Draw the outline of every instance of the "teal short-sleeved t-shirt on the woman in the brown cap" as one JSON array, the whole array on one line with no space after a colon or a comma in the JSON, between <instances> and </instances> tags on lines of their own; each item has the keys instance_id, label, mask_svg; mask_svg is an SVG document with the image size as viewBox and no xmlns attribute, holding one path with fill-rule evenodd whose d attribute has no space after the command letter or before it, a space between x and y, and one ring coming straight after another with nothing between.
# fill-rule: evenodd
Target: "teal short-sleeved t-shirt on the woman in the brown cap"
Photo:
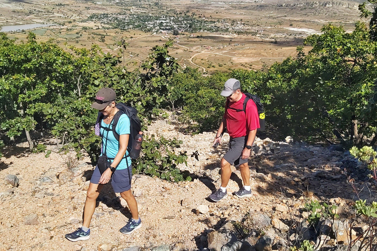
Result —
<instances>
[{"instance_id":1,"label":"teal short-sleeved t-shirt on the woman in the brown cap","mask_svg":"<svg viewBox=\"0 0 377 251\"><path fill-rule=\"evenodd\" d=\"M110 125L107 125L103 120L101 121L101 126L103 127L112 127L112 122ZM126 114L122 114L119 117L118 124L115 127L115 131L119 134L130 134L130 119ZM108 135L107 135L108 134ZM102 151L105 151L105 142L106 142L106 136L108 137L108 143L106 147L106 154L109 158L115 158L116 154L119 150L119 142L115 139L114 133L112 131L107 131L104 128L101 127L101 135L104 135L102 138ZM102 152L101 152L102 155ZM126 151L126 155L128 155L128 151ZM112 161L113 159L111 159ZM131 158L127 157L128 160L128 166L131 166ZM117 166L117 170L122 170L127 168L127 161L126 159L122 159L120 163Z\"/></svg>"}]
</instances>

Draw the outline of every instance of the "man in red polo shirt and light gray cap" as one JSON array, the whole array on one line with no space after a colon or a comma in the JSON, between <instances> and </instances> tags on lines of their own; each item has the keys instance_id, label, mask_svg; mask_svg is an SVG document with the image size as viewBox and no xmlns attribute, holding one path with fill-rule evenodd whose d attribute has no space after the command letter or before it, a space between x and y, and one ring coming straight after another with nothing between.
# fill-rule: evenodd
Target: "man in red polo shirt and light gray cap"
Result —
<instances>
[{"instance_id":1,"label":"man in red polo shirt and light gray cap","mask_svg":"<svg viewBox=\"0 0 377 251\"><path fill-rule=\"evenodd\" d=\"M221 159L221 186L209 196L212 201L220 201L227 196L226 186L232 174L230 169L232 164L240 168L243 181L243 187L234 194L239 198L252 196L248 159L257 128L260 127L257 106L252 99L247 101L246 109L243 111L243 101L246 96L241 92L240 81L234 78L228 79L224 84L221 96L227 97L227 100L225 113L218 127L214 144L221 143L225 127L230 140L229 151Z\"/></svg>"}]
</instances>

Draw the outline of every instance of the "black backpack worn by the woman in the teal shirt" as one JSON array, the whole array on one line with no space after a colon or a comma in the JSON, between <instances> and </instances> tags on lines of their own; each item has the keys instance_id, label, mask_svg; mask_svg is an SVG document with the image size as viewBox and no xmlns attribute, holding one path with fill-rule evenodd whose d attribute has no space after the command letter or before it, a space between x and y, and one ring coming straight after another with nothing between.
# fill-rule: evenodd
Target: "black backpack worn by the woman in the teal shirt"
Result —
<instances>
[{"instance_id":1,"label":"black backpack worn by the woman in the teal shirt","mask_svg":"<svg viewBox=\"0 0 377 251\"><path fill-rule=\"evenodd\" d=\"M139 134L139 131L141 130L141 123L139 118L137 117L137 110L134 107L125 105L122 102L119 102L115 105L116 108L119 109L117 113L115 113L114 118L112 119L112 127L109 129L108 127L101 126L101 128L107 130L107 131L112 131L114 134L114 137L117 141L119 141L119 134L115 131L116 125L118 124L118 120L120 115L125 113L129 119L130 119L130 138L128 140L128 146L127 146L127 151L130 154L132 150L132 145L135 140L135 137L137 134ZM100 117L100 121L104 118L104 115L102 114ZM101 125L101 123L100 123ZM100 130L101 134L101 130ZM102 137L102 135L100 135Z\"/></svg>"}]
</instances>

